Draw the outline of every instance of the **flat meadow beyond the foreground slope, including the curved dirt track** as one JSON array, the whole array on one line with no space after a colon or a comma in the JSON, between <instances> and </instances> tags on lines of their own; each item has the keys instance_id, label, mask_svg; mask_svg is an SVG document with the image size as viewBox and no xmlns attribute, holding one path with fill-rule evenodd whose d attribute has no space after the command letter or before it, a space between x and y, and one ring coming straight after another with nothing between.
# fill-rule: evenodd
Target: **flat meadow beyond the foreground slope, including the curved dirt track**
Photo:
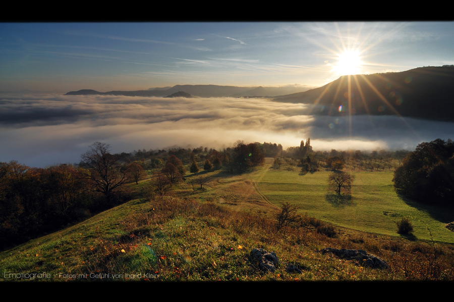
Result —
<instances>
[{"instance_id":1,"label":"flat meadow beyond the foreground slope, including the curved dirt track","mask_svg":"<svg viewBox=\"0 0 454 302\"><path fill-rule=\"evenodd\" d=\"M272 160L255 171L238 176L211 172L204 190L183 184L182 192L240 210L261 213L275 211L282 202L300 206L300 213L338 226L390 236L396 222L410 219L417 239L454 243L454 232L445 225L454 221L454 210L411 202L399 196L392 183L392 171L350 172L355 176L350 195L339 198L328 188L328 175L319 171L302 174L298 168L272 167ZM195 176L188 176L190 179ZM186 190L185 190L186 189ZM431 237L432 236L432 237Z\"/></svg>"}]
</instances>

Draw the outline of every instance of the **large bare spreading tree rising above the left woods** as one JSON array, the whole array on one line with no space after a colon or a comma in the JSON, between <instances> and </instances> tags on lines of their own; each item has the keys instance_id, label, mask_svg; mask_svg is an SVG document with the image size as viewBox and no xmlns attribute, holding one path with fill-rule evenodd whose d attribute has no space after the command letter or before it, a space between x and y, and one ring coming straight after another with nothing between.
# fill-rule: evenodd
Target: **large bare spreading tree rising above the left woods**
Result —
<instances>
[{"instance_id":1,"label":"large bare spreading tree rising above the left woods","mask_svg":"<svg viewBox=\"0 0 454 302\"><path fill-rule=\"evenodd\" d=\"M110 145L99 141L89 146L81 156L81 173L93 185L93 190L101 192L110 202L112 193L128 180L128 168L122 169L119 155L111 155Z\"/></svg>"}]
</instances>

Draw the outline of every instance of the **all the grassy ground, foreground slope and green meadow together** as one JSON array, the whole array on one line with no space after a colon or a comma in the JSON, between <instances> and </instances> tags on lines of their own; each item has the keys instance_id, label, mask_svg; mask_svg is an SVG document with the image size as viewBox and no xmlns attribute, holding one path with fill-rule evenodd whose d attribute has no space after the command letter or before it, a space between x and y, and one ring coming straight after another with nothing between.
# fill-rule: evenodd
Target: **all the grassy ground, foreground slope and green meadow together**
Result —
<instances>
[{"instance_id":1,"label":"all the grassy ground, foreground slope and green meadow together","mask_svg":"<svg viewBox=\"0 0 454 302\"><path fill-rule=\"evenodd\" d=\"M341 200L327 189L329 172L271 166L188 174L166 196L148 194L149 179L130 184L136 199L0 253L0 281L454 280L454 233L444 227L452 212L406 202L391 172L353 172L351 198ZM276 228L280 202L301 207L302 226ZM414 236L396 233L402 216ZM319 253L324 247L364 249L389 269ZM251 261L253 248L276 253L274 273ZM289 263L300 271L288 272Z\"/></svg>"}]
</instances>

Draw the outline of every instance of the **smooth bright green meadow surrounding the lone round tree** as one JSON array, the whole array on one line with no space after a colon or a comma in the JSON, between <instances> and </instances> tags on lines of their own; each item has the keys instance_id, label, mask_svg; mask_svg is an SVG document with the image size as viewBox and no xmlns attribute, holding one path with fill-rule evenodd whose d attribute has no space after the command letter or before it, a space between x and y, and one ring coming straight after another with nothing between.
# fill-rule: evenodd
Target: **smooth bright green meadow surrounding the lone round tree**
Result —
<instances>
[{"instance_id":1,"label":"smooth bright green meadow surrounding the lone round tree","mask_svg":"<svg viewBox=\"0 0 454 302\"><path fill-rule=\"evenodd\" d=\"M396 194L392 172L352 172L355 176L351 197L337 199L327 188L330 172L301 175L297 171L267 170L258 188L271 203L290 202L323 221L361 231L396 234L396 222L408 217L418 239L454 243L454 232L445 224L454 220L454 211L406 202ZM426 226L427 225L427 226Z\"/></svg>"}]
</instances>

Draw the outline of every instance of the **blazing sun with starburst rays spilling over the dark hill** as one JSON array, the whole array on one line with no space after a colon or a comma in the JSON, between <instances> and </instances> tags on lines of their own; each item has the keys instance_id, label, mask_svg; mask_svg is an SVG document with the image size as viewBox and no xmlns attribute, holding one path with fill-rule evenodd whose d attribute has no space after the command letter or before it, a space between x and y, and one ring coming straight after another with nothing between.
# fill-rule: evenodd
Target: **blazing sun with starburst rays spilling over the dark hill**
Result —
<instances>
[{"instance_id":1,"label":"blazing sun with starburst rays spilling over the dark hill","mask_svg":"<svg viewBox=\"0 0 454 302\"><path fill-rule=\"evenodd\" d=\"M329 41L328 44L312 41L329 52L326 54L327 60L324 62L330 68L329 72L331 73L330 83L325 86L325 89L316 98L312 109L318 109L317 105L324 105L329 108L327 109L329 115L345 116L349 125L347 131L350 138L354 136L354 127L352 125L352 117L354 115L368 115L370 122L373 123L370 115L377 110L382 112L386 108L390 114L400 117L406 127L413 130L402 119L393 104L394 102L388 102L386 96L380 93L378 87L374 86L373 81L369 80L370 76L367 75L370 73L367 69L368 67L380 65L370 61L366 62L366 60L374 55L374 46L380 43L381 38L373 34L374 29L362 34L362 26L354 27L351 24L346 24L341 28L335 23L334 27L335 31L323 30ZM357 32L353 32L353 27ZM371 73L376 73L376 71ZM380 74L373 76L383 78L383 75ZM339 80L336 81L336 79ZM395 83L391 84L394 85ZM364 90L372 91L372 95L370 93L365 95L363 93ZM326 97L332 97L330 104L326 102L329 99L326 99L323 102L324 104L319 103L322 98ZM375 105L371 105L372 99L379 100L381 104L378 108L375 108L376 102L374 103ZM327 127L332 129L332 123L327 125Z\"/></svg>"}]
</instances>

